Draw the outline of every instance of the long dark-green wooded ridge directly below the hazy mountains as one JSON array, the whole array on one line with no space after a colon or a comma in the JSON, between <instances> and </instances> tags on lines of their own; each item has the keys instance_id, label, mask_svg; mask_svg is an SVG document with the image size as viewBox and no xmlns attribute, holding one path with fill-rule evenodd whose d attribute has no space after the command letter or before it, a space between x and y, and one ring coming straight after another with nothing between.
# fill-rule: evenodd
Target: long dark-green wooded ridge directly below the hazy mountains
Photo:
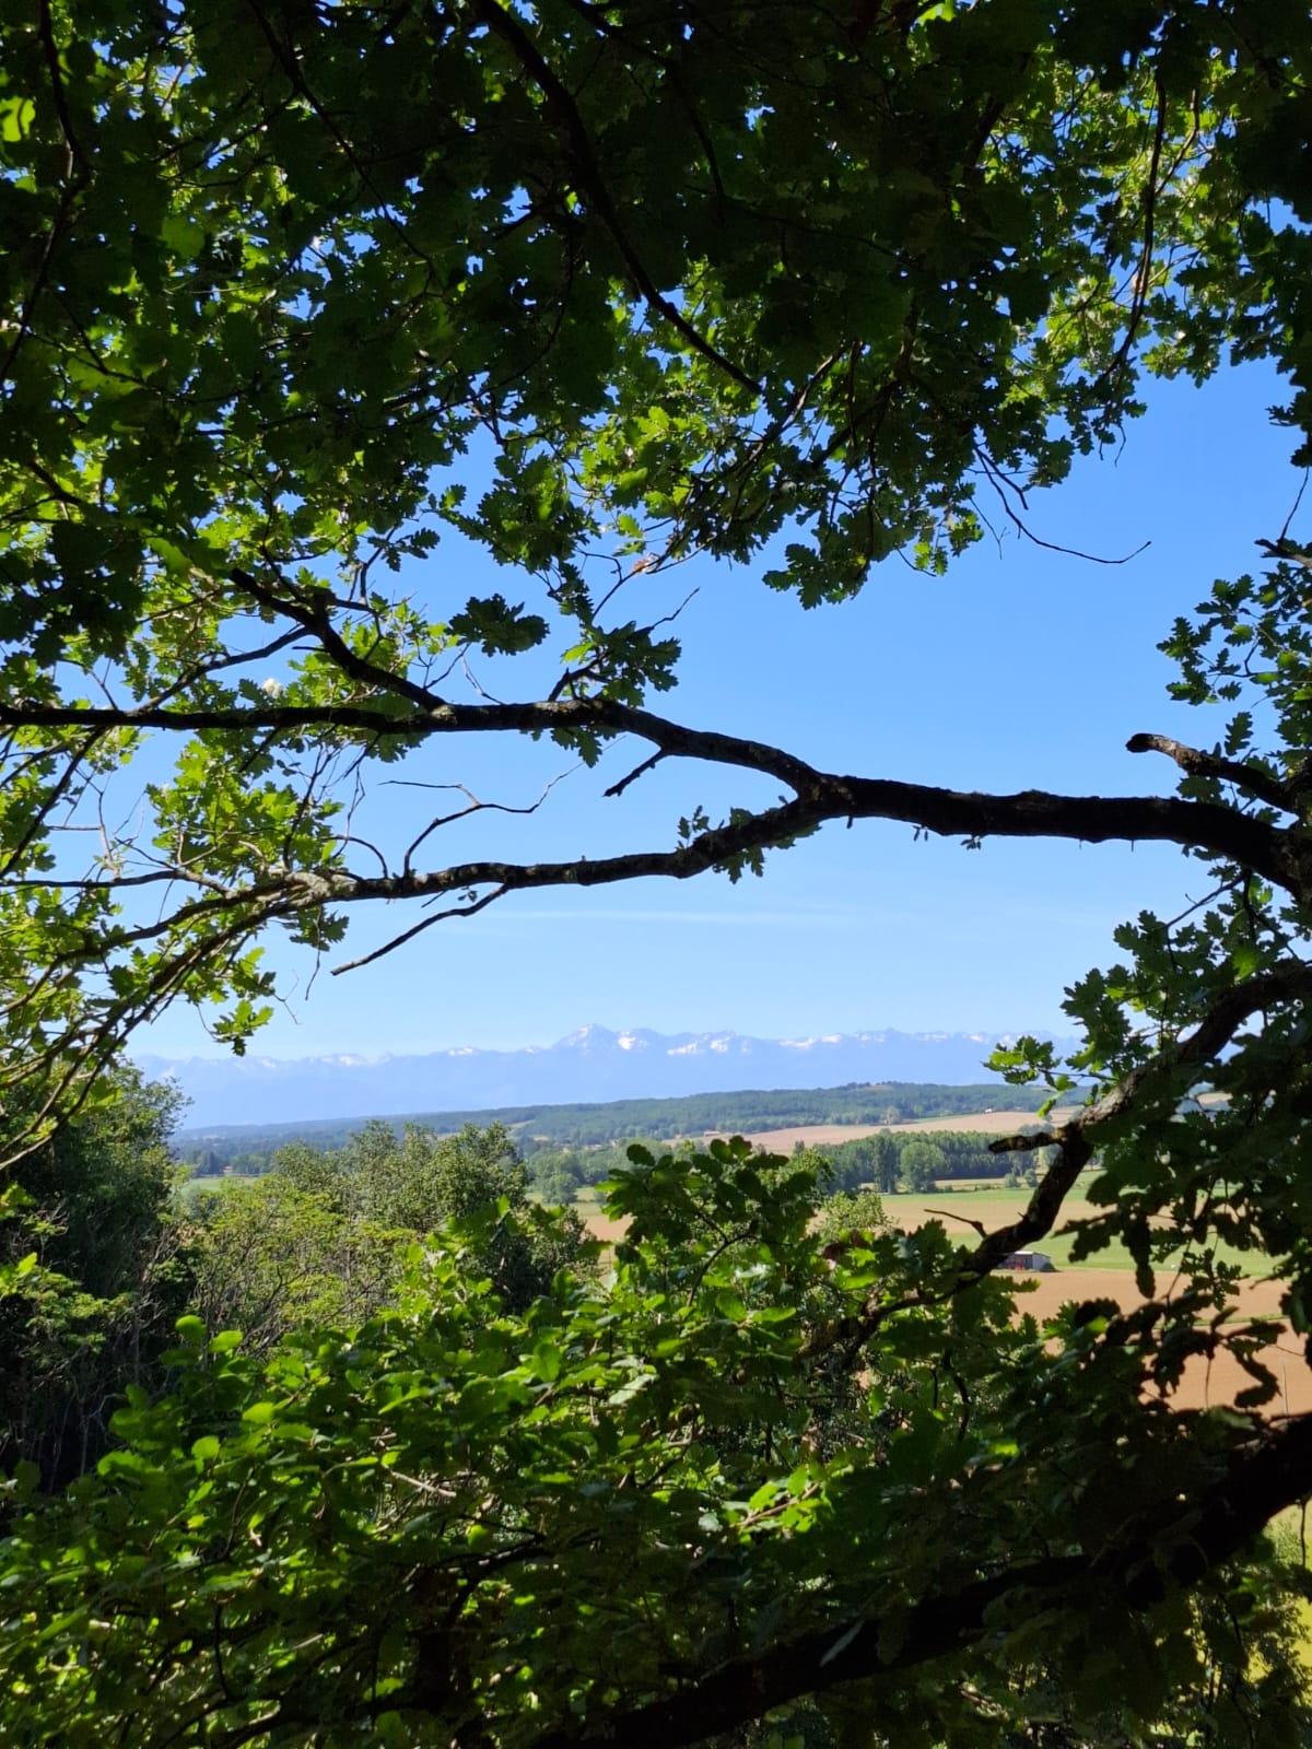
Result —
<instances>
[{"instance_id":1,"label":"long dark-green wooded ridge directly below the hazy mountains","mask_svg":"<svg viewBox=\"0 0 1312 1749\"><path fill-rule=\"evenodd\" d=\"M600 1105L502 1105L495 1111L415 1112L383 1119L401 1135L408 1123L455 1133L472 1123L504 1125L525 1160L562 1149L605 1149L609 1144L642 1137L666 1142L708 1130L750 1135L756 1130L785 1130L812 1123L875 1125L911 1123L918 1118L959 1118L1004 1105L1037 1111L1037 1088L1008 1088L997 1083L938 1086L934 1083L882 1081L848 1083L841 1088L775 1090L745 1093L687 1093L680 1098L623 1098ZM306 1142L332 1153L345 1147L371 1119L327 1118L276 1125L217 1125L182 1130L177 1154L198 1175L240 1172L257 1177L289 1142ZM621 1149L623 1158L623 1149ZM597 1172L605 1177L605 1172ZM593 1181L593 1174L588 1174Z\"/></svg>"}]
</instances>

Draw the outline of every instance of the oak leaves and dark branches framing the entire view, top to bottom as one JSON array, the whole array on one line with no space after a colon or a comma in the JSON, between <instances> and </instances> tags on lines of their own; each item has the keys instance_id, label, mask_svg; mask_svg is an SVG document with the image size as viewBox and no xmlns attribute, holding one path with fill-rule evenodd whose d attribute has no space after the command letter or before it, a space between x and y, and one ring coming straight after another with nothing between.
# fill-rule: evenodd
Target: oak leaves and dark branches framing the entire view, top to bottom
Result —
<instances>
[{"instance_id":1,"label":"oak leaves and dark branches framing the entire view, top to bottom","mask_svg":"<svg viewBox=\"0 0 1312 1749\"><path fill-rule=\"evenodd\" d=\"M523 888L736 880L855 819L1160 840L1212 876L1071 992L1097 1093L1013 1139L1050 1165L978 1244L929 1228L829 1270L808 1174L721 1147L639 1158L618 1270L527 1312L471 1265L471 1216L357 1336L243 1357L187 1326L177 1392L16 1532L7 1656L54 1709L31 1740L675 1744L861 1679L899 1746L1002 1744L1036 1669L1078 1740L1146 1742L1158 1655L1239 1695L1223 1641L1263 1581L1228 1562L1312 1459L1214 1254L1277 1270L1305 1336L1309 556L1254 530L1268 563L1188 612L1191 582L1163 628L1177 696L1230 707L1200 747L1132 735L1172 798L833 773L679 721L654 708L679 626L642 602L780 542L764 581L805 607L892 554L936 570L990 516L1025 526L1151 378L1223 359L1282 373L1312 460L1307 9L35 0L3 51L10 1160L110 1097L166 1004L241 1049L266 934L339 965L367 902L415 906L399 948ZM446 530L504 593L462 596ZM523 689L488 696L483 658ZM689 799L644 850L443 861L504 806L450 801L497 736L570 749L618 803L677 759L785 794ZM448 798L378 841L397 770ZM1032 1041L1002 1065L1069 1090ZM1221 1102L1181 1111L1204 1081ZM994 1270L1092 1161L1081 1245L1127 1244L1146 1303L1046 1347ZM1218 1347L1249 1397L1172 1410ZM1069 1686L1106 1681L1097 1644L1141 1677L1106 1730ZM1288 1740L1267 1698L1207 1728Z\"/></svg>"}]
</instances>

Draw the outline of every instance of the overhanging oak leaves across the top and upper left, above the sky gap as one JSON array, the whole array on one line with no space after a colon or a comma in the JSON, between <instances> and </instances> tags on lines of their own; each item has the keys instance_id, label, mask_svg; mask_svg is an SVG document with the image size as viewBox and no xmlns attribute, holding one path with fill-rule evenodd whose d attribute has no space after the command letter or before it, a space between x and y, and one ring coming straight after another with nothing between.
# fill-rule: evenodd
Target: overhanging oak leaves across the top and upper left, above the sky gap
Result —
<instances>
[{"instance_id":1,"label":"overhanging oak leaves across the top and upper left, above the sky gap","mask_svg":"<svg viewBox=\"0 0 1312 1749\"><path fill-rule=\"evenodd\" d=\"M679 640L618 582L768 549L810 607L892 554L938 572L981 484L1018 514L1146 378L1226 348L1305 420L1303 26L1293 0L7 23L0 840L49 876L3 894L17 1133L164 997L243 1049L271 922L322 951L355 899L439 890L404 850L362 885L362 770L483 724L593 763L633 726ZM394 589L450 530L523 598ZM471 651L546 663L539 705L453 703ZM178 743L61 887L63 827L161 726L96 715L105 663ZM775 815L689 812L686 862L738 878L817 824ZM168 871L152 920L124 881Z\"/></svg>"}]
</instances>

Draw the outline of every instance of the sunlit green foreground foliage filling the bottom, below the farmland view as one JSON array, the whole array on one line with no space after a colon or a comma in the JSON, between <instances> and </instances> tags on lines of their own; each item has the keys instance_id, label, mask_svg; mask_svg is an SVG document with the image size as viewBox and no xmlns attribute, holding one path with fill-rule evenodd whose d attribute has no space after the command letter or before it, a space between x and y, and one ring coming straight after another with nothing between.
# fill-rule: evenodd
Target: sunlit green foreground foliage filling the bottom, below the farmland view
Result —
<instances>
[{"instance_id":1,"label":"sunlit green foreground foliage filling the bottom, below the farmland view","mask_svg":"<svg viewBox=\"0 0 1312 1749\"><path fill-rule=\"evenodd\" d=\"M810 1627L838 1655L854 1611L882 1623L883 1674L820 1700L834 1742L861 1721L869 1740L1002 1749L1036 1707L1076 1714L1086 1744L1148 1742L1163 1718L1216 1744L1253 1740L1254 1718L1270 1742L1305 1730L1270 1567L1218 1572L1195 1606L999 1607L960 1684L918 1672L908 1599L1030 1560L1055 1602L1067 1565L1086 1583L1078 1551L1116 1546L1125 1495L1074 1460L1090 1418L1123 1425L1144 1509L1179 1515L1177 1487L1225 1457L1179 1417L1130 1413L1135 1368L1071 1319L1016 1326L997 1284L843 1362L843 1315L945 1247L875 1228L834 1263L817 1195L806 1167L742 1144L639 1154L611 1189L632 1219L614 1270L565 1270L520 1312L457 1223L353 1333L252 1355L182 1319L170 1394L131 1394L98 1474L63 1499L19 1483L7 1733L546 1744L665 1693L694 1648L750 1660ZM1149 1536L1151 1560L1151 1532L1121 1536L1130 1555ZM1044 1546L1071 1558L1039 1579Z\"/></svg>"}]
</instances>

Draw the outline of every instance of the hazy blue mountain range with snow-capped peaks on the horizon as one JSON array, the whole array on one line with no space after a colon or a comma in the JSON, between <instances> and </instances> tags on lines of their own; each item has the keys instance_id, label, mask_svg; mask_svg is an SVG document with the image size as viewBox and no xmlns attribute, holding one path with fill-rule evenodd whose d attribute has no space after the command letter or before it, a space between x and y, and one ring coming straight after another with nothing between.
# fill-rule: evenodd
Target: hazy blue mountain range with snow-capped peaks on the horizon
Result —
<instances>
[{"instance_id":1,"label":"hazy blue mountain range with snow-capped peaks on the horizon","mask_svg":"<svg viewBox=\"0 0 1312 1749\"><path fill-rule=\"evenodd\" d=\"M611 1032L581 1027L516 1051L458 1046L422 1056L140 1056L191 1100L189 1130L311 1118L371 1118L576 1100L663 1098L742 1088L871 1081L987 1081L1009 1032L850 1032L750 1039L738 1032ZM1074 1041L1057 1041L1058 1048Z\"/></svg>"}]
</instances>

